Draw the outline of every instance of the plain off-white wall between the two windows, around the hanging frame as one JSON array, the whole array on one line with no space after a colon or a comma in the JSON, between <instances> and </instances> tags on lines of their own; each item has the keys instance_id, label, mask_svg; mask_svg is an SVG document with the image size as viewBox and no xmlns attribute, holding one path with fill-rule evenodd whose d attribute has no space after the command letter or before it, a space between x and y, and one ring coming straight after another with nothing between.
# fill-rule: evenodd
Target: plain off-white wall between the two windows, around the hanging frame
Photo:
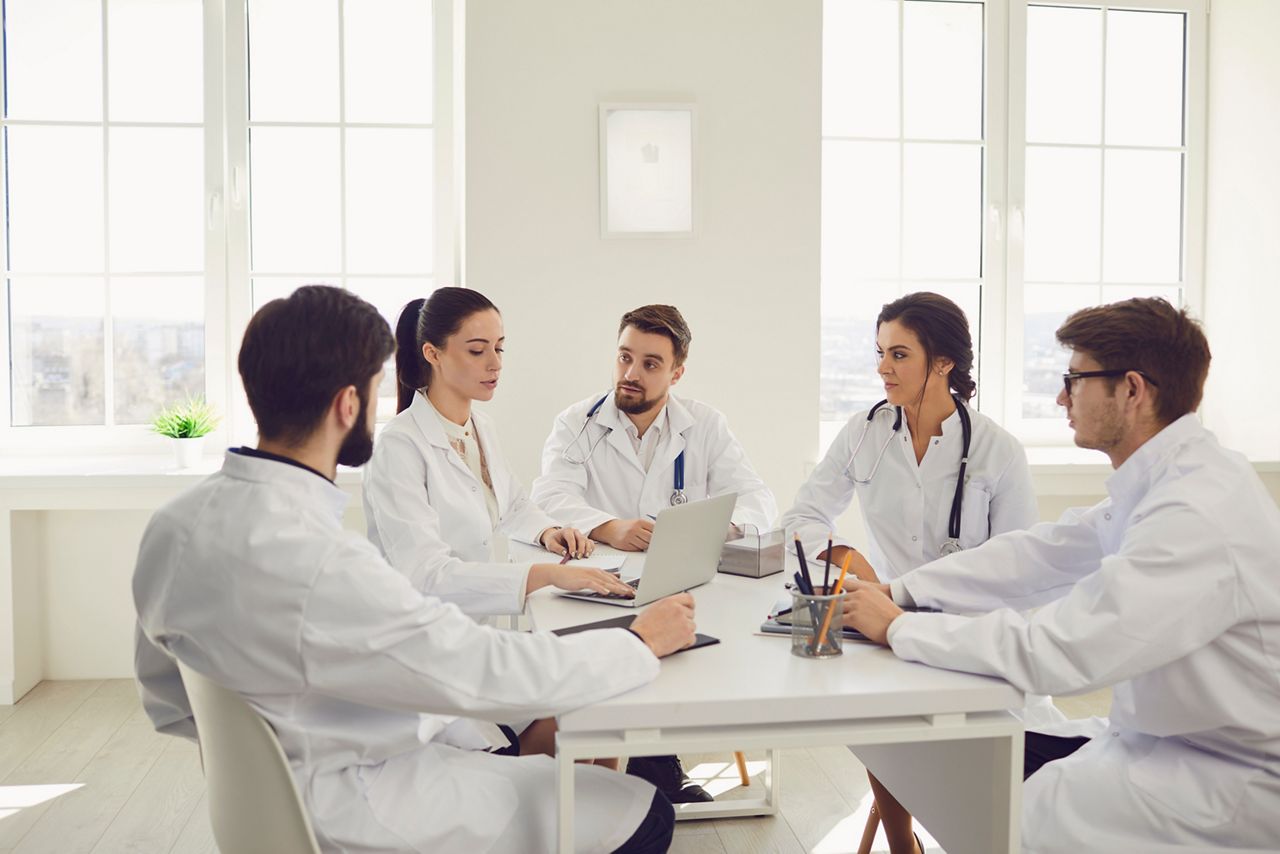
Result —
<instances>
[{"instance_id":1,"label":"plain off-white wall between the two windows, around the hanging frame","mask_svg":"<svg viewBox=\"0 0 1280 854\"><path fill-rule=\"evenodd\" d=\"M489 412L529 483L556 414L602 394L618 318L680 307L677 391L722 410L786 506L817 455L818 0L472 0L467 284L503 311ZM596 108L698 105L698 233L602 239Z\"/></svg>"}]
</instances>

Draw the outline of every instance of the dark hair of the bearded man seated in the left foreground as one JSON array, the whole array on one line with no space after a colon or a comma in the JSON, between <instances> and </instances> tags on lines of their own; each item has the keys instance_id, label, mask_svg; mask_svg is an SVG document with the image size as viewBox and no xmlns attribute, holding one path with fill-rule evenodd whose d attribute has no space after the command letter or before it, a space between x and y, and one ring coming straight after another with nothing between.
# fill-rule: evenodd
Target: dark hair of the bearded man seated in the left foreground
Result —
<instances>
[{"instance_id":1,"label":"dark hair of the bearded man seated in the left foreground","mask_svg":"<svg viewBox=\"0 0 1280 854\"><path fill-rule=\"evenodd\" d=\"M244 329L239 374L259 435L301 442L334 396L365 388L396 350L378 309L349 291L321 284L271 300Z\"/></svg>"}]
</instances>

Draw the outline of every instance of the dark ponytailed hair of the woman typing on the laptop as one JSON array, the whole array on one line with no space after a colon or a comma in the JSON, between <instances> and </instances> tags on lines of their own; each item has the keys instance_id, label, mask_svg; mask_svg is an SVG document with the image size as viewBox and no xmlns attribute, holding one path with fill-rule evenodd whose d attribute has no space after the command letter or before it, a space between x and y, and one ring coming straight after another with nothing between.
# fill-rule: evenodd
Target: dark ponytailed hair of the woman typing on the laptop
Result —
<instances>
[{"instance_id":1,"label":"dark ponytailed hair of the woman typing on the laptop","mask_svg":"<svg viewBox=\"0 0 1280 854\"><path fill-rule=\"evenodd\" d=\"M396 411L403 412L420 388L431 384L431 364L422 344L444 341L477 311L497 311L488 297L467 288L436 288L426 300L410 300L396 321Z\"/></svg>"}]
</instances>

